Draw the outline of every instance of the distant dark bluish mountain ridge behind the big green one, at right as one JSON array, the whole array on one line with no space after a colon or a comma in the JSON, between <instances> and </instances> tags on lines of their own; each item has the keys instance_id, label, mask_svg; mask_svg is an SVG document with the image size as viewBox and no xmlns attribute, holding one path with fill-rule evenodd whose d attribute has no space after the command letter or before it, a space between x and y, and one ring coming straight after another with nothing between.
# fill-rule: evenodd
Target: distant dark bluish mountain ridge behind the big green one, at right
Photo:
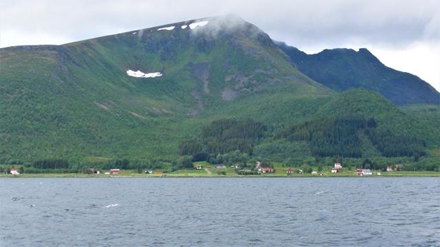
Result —
<instances>
[{"instance_id":1,"label":"distant dark bluish mountain ridge behind the big green one, at right","mask_svg":"<svg viewBox=\"0 0 440 247\"><path fill-rule=\"evenodd\" d=\"M440 93L415 75L386 67L368 49L325 49L305 54L277 42L292 63L309 78L341 92L364 88L379 92L395 104L440 104Z\"/></svg>"}]
</instances>

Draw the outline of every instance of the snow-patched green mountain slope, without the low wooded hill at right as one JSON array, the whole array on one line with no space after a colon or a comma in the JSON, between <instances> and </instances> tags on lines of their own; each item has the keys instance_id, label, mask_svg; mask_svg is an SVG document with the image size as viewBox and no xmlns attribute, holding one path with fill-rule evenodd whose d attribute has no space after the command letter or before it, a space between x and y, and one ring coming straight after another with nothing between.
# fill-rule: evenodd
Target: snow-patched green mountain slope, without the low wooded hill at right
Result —
<instances>
[{"instance_id":1,"label":"snow-patched green mountain slope, without the low wooded hill at right","mask_svg":"<svg viewBox=\"0 0 440 247\"><path fill-rule=\"evenodd\" d=\"M60 46L8 47L0 49L0 62L3 162L173 156L179 139L208 120L199 115L228 113L251 95L248 104L258 108L277 92L332 93L235 16ZM135 78L129 70L162 76Z\"/></svg>"}]
</instances>

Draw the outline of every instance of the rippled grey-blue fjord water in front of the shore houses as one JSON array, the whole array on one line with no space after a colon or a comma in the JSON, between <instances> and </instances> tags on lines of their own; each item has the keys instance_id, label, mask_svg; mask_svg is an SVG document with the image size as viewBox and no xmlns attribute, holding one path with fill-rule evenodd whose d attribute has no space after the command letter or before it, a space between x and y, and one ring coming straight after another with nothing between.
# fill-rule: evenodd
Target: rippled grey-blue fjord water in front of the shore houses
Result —
<instances>
[{"instance_id":1,"label":"rippled grey-blue fjord water in front of the shore houses","mask_svg":"<svg viewBox=\"0 0 440 247\"><path fill-rule=\"evenodd\" d=\"M0 246L439 246L439 178L5 178Z\"/></svg>"}]
</instances>

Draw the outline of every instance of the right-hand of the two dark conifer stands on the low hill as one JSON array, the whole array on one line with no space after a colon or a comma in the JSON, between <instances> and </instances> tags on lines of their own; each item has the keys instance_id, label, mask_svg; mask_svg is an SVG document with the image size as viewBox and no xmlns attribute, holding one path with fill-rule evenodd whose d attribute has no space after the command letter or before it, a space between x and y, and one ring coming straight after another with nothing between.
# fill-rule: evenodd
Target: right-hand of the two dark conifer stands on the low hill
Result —
<instances>
[{"instance_id":1,"label":"right-hand of the two dark conifer stands on the low hill","mask_svg":"<svg viewBox=\"0 0 440 247\"><path fill-rule=\"evenodd\" d=\"M308 141L315 156L362 156L360 131L384 156L423 156L425 143L415 137L396 134L390 128L377 128L375 119L326 118L289 126L278 133L278 138L289 141Z\"/></svg>"}]
</instances>

